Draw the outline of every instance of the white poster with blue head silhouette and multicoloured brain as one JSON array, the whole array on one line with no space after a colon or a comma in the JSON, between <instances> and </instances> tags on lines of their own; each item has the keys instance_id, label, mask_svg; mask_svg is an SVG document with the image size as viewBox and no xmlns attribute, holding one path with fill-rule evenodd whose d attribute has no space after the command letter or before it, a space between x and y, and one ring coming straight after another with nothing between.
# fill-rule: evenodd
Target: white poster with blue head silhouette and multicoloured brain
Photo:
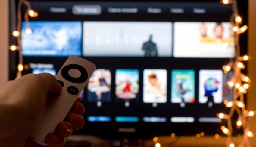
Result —
<instances>
[{"instance_id":1,"label":"white poster with blue head silhouette and multicoloured brain","mask_svg":"<svg viewBox=\"0 0 256 147\"><path fill-rule=\"evenodd\" d=\"M223 71L200 70L199 71L199 103L213 103L223 101Z\"/></svg>"}]
</instances>

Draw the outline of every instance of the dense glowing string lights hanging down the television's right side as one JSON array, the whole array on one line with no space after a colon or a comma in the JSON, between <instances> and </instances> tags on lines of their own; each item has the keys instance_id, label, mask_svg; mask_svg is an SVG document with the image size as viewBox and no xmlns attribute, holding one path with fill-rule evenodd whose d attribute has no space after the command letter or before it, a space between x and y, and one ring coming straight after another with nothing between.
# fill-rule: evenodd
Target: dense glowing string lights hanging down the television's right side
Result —
<instances>
[{"instance_id":1,"label":"dense glowing string lights hanging down the television's right side","mask_svg":"<svg viewBox=\"0 0 256 147\"><path fill-rule=\"evenodd\" d=\"M224 104L226 107L230 108L229 114L224 113L218 113L217 116L220 119L226 119L227 120L227 127L222 126L221 130L224 134L227 135L227 147L244 147L244 146L250 146L248 137L253 137L254 134L249 131L249 125L247 118L254 116L254 111L245 110L245 102L244 102L244 94L247 93L247 89L250 87L250 79L244 75L241 70L245 69L244 63L248 61L251 57L248 55L240 56L240 46L239 46L239 35L247 30L247 26L244 25L240 27L240 24L242 23L241 16L238 15L238 7L237 7L237 1L236 0L223 0L223 4L230 4L233 3L233 15L231 16L231 23L235 23L233 27L233 31L236 33L235 37L235 58L232 58L231 61L228 63L228 65L223 66L224 73L228 73L231 70L233 70L233 78L231 81L227 82L227 85L229 88L233 88L233 100L232 101L224 101ZM225 44L224 44L225 46ZM231 136L233 132L232 128L232 116L234 112L237 112L238 119L236 122L237 128L243 129L243 140L240 144L235 145L233 142L231 142ZM216 135L215 135L216 138Z\"/></svg>"}]
</instances>

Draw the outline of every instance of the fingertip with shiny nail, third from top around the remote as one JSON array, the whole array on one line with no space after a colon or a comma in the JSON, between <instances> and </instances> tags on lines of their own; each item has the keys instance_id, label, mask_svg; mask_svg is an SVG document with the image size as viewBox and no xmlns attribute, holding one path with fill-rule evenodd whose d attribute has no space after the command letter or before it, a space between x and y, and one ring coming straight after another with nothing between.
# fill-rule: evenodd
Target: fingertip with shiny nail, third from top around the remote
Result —
<instances>
[{"instance_id":1,"label":"fingertip with shiny nail, third from top around the remote","mask_svg":"<svg viewBox=\"0 0 256 147\"><path fill-rule=\"evenodd\" d=\"M60 122L56 128L55 128L55 133L59 137L69 137L73 132L73 127L70 122Z\"/></svg>"}]
</instances>

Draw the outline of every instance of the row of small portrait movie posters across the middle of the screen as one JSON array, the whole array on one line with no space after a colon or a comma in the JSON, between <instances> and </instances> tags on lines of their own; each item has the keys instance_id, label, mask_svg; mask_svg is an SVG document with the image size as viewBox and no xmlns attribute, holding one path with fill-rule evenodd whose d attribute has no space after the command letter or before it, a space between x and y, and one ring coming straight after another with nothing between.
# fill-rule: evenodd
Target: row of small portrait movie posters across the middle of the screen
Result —
<instances>
[{"instance_id":1,"label":"row of small portrait movie posters across the middle of the screen","mask_svg":"<svg viewBox=\"0 0 256 147\"><path fill-rule=\"evenodd\" d=\"M232 99L232 90L227 81L232 73L223 74L222 70L199 71L199 103L221 103ZM88 101L111 101L111 71L96 69L88 82ZM115 71L116 101L139 101L139 88L143 88L144 103L167 102L167 70L145 69L143 85L139 85L139 70L117 69ZM171 71L171 102L195 102L195 71Z\"/></svg>"}]
</instances>

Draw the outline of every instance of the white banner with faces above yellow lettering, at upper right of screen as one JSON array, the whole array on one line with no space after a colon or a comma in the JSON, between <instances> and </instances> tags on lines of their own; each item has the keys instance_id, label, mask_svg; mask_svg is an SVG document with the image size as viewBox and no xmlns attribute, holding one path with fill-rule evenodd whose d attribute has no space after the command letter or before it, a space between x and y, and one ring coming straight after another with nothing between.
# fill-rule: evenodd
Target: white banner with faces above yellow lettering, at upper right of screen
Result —
<instances>
[{"instance_id":1,"label":"white banner with faces above yellow lettering, at upper right of screen","mask_svg":"<svg viewBox=\"0 0 256 147\"><path fill-rule=\"evenodd\" d=\"M230 22L174 22L173 56L234 57L233 27Z\"/></svg>"}]
</instances>

